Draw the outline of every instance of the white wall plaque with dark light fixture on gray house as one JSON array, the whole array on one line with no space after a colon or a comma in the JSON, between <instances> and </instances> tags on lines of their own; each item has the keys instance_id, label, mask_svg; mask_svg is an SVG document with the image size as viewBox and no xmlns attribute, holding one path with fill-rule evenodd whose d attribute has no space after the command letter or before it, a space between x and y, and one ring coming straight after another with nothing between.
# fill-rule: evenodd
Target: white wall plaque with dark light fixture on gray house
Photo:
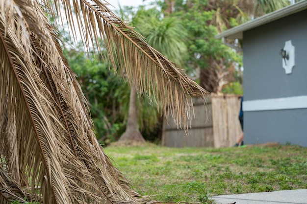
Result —
<instances>
[{"instance_id":1,"label":"white wall plaque with dark light fixture on gray house","mask_svg":"<svg viewBox=\"0 0 307 204\"><path fill-rule=\"evenodd\" d=\"M286 74L291 74L292 68L295 66L295 47L292 45L291 40L285 42L280 54L282 57L282 68L284 68Z\"/></svg>"}]
</instances>

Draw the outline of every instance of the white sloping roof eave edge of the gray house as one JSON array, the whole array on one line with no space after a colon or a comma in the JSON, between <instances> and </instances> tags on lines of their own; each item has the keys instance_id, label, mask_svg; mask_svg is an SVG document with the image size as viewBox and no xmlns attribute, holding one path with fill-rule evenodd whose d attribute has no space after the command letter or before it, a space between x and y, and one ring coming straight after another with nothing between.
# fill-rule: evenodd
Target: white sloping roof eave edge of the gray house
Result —
<instances>
[{"instance_id":1,"label":"white sloping roof eave edge of the gray house","mask_svg":"<svg viewBox=\"0 0 307 204\"><path fill-rule=\"evenodd\" d=\"M216 39L220 39L220 38L243 39L244 31L250 30L252 28L258 27L266 23L270 23L272 21L276 21L278 19L281 19L291 14L303 11L305 9L307 9L307 0L297 2L293 5L289 5L287 7L281 8L272 13L256 18L255 20L252 20L252 21L243 23L241 25L238 25L236 27L230 28L229 30L226 30L216 35L215 38Z\"/></svg>"}]
</instances>

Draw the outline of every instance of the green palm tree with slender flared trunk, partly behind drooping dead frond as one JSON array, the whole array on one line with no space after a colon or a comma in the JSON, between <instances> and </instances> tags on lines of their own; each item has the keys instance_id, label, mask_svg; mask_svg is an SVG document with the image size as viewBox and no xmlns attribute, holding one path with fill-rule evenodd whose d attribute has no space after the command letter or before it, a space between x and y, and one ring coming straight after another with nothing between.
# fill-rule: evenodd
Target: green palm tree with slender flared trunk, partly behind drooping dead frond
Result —
<instances>
[{"instance_id":1,"label":"green palm tree with slender flared trunk, partly behind drooping dead frond","mask_svg":"<svg viewBox=\"0 0 307 204\"><path fill-rule=\"evenodd\" d=\"M182 66L187 51L184 43L186 31L177 18L162 18L160 14L154 8L149 10L141 8L134 15L131 24L138 33L146 38L149 45ZM148 94L148 96L151 96L151 93ZM138 99L136 89L132 86L129 97L127 128L119 141L145 142L138 125L138 112L141 111L141 107L137 106L141 103L137 101ZM143 108L145 107L143 106ZM157 109L157 107L148 107L148 109L154 108ZM146 117L155 118L152 122L157 123L158 113L154 114L153 111L151 113L152 115L146 115Z\"/></svg>"}]
</instances>

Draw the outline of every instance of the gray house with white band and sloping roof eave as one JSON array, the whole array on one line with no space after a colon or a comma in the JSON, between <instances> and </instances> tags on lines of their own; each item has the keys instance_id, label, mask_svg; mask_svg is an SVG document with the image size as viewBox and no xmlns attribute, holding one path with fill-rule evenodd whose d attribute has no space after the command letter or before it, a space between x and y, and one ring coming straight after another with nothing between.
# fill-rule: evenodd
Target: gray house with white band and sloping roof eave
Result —
<instances>
[{"instance_id":1,"label":"gray house with white band and sloping roof eave","mask_svg":"<svg viewBox=\"0 0 307 204\"><path fill-rule=\"evenodd\" d=\"M307 146L307 0L216 38L243 40L244 142Z\"/></svg>"}]
</instances>

